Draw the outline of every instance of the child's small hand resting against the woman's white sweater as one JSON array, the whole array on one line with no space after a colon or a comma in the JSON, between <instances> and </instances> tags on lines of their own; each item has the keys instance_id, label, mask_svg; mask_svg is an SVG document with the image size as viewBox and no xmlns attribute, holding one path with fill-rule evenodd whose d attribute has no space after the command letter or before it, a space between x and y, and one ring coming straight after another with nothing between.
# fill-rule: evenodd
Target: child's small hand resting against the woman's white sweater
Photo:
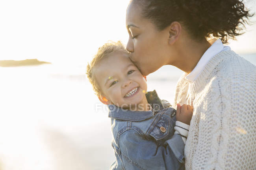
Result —
<instances>
[{"instance_id":1,"label":"child's small hand resting against the woman's white sweater","mask_svg":"<svg viewBox=\"0 0 256 170\"><path fill-rule=\"evenodd\" d=\"M176 119L177 121L183 122L190 125L190 121L193 115L193 108L188 104L177 104Z\"/></svg>"}]
</instances>

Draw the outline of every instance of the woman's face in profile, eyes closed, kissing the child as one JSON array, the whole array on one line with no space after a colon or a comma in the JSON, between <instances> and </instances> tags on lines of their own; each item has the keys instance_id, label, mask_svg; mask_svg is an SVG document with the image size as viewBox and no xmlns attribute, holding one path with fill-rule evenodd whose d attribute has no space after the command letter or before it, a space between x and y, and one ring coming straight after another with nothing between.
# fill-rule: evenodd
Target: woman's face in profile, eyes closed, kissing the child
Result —
<instances>
[{"instance_id":1,"label":"woman's face in profile, eyes closed, kissing the child","mask_svg":"<svg viewBox=\"0 0 256 170\"><path fill-rule=\"evenodd\" d=\"M158 29L150 20L141 17L141 7L131 3L126 11L129 40L126 49L130 59L143 75L148 75L168 63L168 28Z\"/></svg>"}]
</instances>

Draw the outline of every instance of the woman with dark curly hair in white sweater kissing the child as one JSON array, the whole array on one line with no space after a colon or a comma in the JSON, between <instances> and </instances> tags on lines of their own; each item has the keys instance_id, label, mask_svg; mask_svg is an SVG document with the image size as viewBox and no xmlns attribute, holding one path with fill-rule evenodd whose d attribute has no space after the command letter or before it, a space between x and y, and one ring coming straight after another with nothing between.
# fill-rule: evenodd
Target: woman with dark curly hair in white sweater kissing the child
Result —
<instances>
[{"instance_id":1,"label":"woman with dark curly hair in white sweater kissing the child","mask_svg":"<svg viewBox=\"0 0 256 170\"><path fill-rule=\"evenodd\" d=\"M184 71L174 106L194 107L186 170L256 169L256 66L223 45L250 16L239 0L132 0L128 6L126 48L141 73L167 64ZM211 36L219 39L210 43Z\"/></svg>"}]
</instances>

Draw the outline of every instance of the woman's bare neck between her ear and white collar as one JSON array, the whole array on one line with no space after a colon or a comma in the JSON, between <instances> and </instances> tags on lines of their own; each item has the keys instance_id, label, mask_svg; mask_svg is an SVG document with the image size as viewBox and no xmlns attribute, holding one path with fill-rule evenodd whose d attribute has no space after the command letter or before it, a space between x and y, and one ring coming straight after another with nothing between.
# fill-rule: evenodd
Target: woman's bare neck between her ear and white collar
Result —
<instances>
[{"instance_id":1,"label":"woman's bare neck between her ear and white collar","mask_svg":"<svg viewBox=\"0 0 256 170\"><path fill-rule=\"evenodd\" d=\"M211 44L207 40L196 42L195 40L184 38L177 41L173 46L176 53L173 54L174 62L171 62L171 65L189 74L197 66L198 61L210 46Z\"/></svg>"}]
</instances>

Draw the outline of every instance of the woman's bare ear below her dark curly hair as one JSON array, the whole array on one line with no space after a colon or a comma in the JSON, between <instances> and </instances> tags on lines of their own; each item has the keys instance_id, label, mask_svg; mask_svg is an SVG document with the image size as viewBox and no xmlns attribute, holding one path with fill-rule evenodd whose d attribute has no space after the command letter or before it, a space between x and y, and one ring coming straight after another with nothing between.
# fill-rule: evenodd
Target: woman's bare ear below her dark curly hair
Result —
<instances>
[{"instance_id":1,"label":"woman's bare ear below her dark curly hair","mask_svg":"<svg viewBox=\"0 0 256 170\"><path fill-rule=\"evenodd\" d=\"M169 26L169 39L168 42L170 45L173 45L178 38L180 37L180 33L182 31L182 27L179 22L172 22Z\"/></svg>"}]
</instances>

